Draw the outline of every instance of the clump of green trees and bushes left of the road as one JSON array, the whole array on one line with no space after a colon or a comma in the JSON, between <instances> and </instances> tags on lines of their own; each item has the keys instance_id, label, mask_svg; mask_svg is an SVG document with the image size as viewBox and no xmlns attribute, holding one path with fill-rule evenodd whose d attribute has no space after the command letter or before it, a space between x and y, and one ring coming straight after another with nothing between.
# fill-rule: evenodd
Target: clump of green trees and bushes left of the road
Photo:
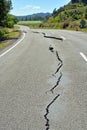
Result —
<instances>
[{"instance_id":1,"label":"clump of green trees and bushes left of the road","mask_svg":"<svg viewBox=\"0 0 87 130\"><path fill-rule=\"evenodd\" d=\"M17 18L9 14L11 9L11 0L0 0L0 26L13 27L17 22Z\"/></svg>"}]
</instances>

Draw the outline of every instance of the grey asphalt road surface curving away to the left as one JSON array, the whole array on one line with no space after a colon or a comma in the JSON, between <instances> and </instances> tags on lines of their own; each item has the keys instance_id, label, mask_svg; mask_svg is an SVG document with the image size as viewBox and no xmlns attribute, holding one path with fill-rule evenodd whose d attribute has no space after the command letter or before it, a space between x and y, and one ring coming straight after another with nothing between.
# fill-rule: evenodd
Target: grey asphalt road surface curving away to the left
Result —
<instances>
[{"instance_id":1,"label":"grey asphalt road surface curving away to the left","mask_svg":"<svg viewBox=\"0 0 87 130\"><path fill-rule=\"evenodd\" d=\"M86 130L87 33L21 30L0 52L0 130Z\"/></svg>"}]
</instances>

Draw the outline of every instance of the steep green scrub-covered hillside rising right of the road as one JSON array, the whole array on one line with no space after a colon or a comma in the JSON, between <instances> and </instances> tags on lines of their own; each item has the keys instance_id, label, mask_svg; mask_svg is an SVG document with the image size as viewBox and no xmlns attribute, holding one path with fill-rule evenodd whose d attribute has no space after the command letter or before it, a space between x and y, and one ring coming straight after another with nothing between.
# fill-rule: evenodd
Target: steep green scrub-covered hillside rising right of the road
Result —
<instances>
[{"instance_id":1,"label":"steep green scrub-covered hillside rising right of the road","mask_svg":"<svg viewBox=\"0 0 87 130\"><path fill-rule=\"evenodd\" d=\"M67 5L54 9L52 16L44 23L51 28L86 28L87 4L85 0L72 0Z\"/></svg>"}]
</instances>

